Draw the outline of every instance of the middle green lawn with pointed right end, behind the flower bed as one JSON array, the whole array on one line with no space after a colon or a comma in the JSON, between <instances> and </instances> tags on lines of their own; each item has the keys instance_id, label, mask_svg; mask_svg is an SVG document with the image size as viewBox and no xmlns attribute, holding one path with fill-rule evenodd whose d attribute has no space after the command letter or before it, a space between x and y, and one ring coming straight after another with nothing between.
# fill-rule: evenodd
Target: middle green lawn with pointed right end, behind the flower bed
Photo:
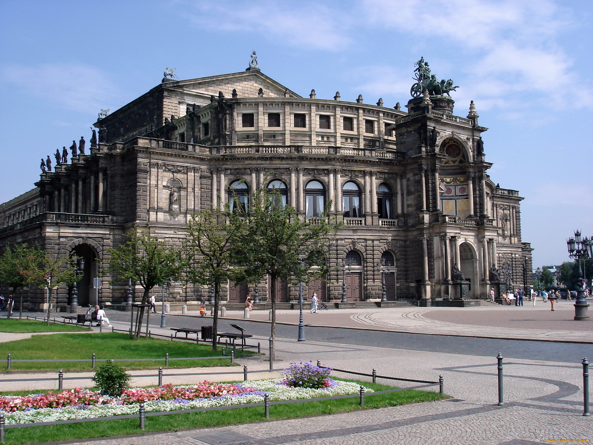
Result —
<instances>
[{"instance_id":1,"label":"middle green lawn with pointed right end, behind the flower bed","mask_svg":"<svg viewBox=\"0 0 593 445\"><path fill-rule=\"evenodd\" d=\"M13 371L81 371L91 370L90 361L82 362L15 362L14 360L26 359L90 359L93 352L99 358L159 358L155 361L118 361L118 365L127 369L149 369L165 366L165 353L170 358L178 357L220 357L222 349L212 351L211 345L168 341L156 338L141 338L130 340L125 333L59 333L49 335L33 335L31 338L0 343L0 371L7 370L5 357L12 355ZM230 354L227 349L227 353ZM243 355L242 355L243 354ZM254 352L236 351L236 357L254 355ZM98 364L103 362L98 361ZM212 360L174 360L169 362L170 368L187 368L197 366L229 366L231 361L227 358Z\"/></svg>"}]
</instances>

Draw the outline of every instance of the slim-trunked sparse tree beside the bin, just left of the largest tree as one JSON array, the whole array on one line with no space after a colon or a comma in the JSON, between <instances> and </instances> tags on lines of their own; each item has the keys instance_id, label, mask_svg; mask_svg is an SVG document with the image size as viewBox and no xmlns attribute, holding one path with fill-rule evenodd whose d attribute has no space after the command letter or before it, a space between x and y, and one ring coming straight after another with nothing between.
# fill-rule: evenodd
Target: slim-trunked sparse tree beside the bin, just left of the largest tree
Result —
<instances>
[{"instance_id":1,"label":"slim-trunked sparse tree beside the bin, just left of the largest tree","mask_svg":"<svg viewBox=\"0 0 593 445\"><path fill-rule=\"evenodd\" d=\"M245 236L244 222L236 213L228 218L216 208L193 214L187 224L187 280L196 284L211 284L214 289L214 318L212 320L212 350L217 350L218 310L221 284L229 279L242 281L243 268L233 261L234 250Z\"/></svg>"}]
</instances>

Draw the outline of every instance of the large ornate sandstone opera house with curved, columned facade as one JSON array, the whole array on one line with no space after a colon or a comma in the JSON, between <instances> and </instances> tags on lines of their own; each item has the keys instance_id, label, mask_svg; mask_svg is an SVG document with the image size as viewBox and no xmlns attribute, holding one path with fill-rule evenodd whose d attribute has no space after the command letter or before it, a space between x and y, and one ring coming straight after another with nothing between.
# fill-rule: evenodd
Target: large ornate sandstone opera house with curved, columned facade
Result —
<instances>
[{"instance_id":1,"label":"large ornate sandstone opera house with curved, columned facade","mask_svg":"<svg viewBox=\"0 0 593 445\"><path fill-rule=\"evenodd\" d=\"M103 275L107 249L135 225L178 243L190 214L222 208L235 181L247 185L248 201L278 180L301 217L318 217L331 200L331 213L345 223L328 258L340 269L309 284L309 295L339 301L344 281L349 301L486 298L491 287L499 290L496 269L508 275L501 289L502 281L529 287L522 198L490 180L486 128L473 107L467 118L452 115L453 104L417 97L404 112L382 101L341 101L339 93L303 98L259 71L164 79L95 123L100 142L90 154L43 173L35 189L2 204L0 243L83 256L82 306L94 303L92 278ZM103 278L100 300L125 304L127 284L109 281ZM263 301L268 287L257 287ZM298 298L297 287L280 289L280 301ZM224 298L238 303L254 291L230 283ZM26 292L31 307L42 303L41 291ZM168 299L208 293L177 284ZM69 302L63 287L58 306Z\"/></svg>"}]
</instances>

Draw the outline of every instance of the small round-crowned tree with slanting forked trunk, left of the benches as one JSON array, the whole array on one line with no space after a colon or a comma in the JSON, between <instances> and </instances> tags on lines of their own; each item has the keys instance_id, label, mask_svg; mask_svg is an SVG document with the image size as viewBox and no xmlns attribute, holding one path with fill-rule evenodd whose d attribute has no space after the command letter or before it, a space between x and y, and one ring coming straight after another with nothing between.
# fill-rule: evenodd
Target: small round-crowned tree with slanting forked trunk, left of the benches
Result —
<instances>
[{"instance_id":1,"label":"small round-crowned tree with slanting forked trunk, left of the benches","mask_svg":"<svg viewBox=\"0 0 593 445\"><path fill-rule=\"evenodd\" d=\"M127 241L119 247L110 247L107 252L110 259L106 260L106 271L111 274L114 281L137 281L144 288L141 304L148 304L148 294L158 284L168 279L183 278L184 259L181 250L159 240L150 232L150 228L133 231L126 234ZM135 338L140 337L142 319L144 319L142 306L138 311L135 326ZM148 338L148 329L146 329Z\"/></svg>"}]
</instances>

